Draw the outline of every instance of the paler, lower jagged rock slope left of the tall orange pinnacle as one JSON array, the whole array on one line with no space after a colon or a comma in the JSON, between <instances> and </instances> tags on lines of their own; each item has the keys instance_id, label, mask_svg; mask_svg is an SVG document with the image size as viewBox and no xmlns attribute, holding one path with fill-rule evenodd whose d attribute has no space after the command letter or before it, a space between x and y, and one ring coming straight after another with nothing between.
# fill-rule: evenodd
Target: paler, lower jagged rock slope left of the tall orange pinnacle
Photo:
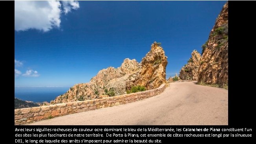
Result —
<instances>
[{"instance_id":1,"label":"paler, lower jagged rock slope left of the tall orange pinnacle","mask_svg":"<svg viewBox=\"0 0 256 144\"><path fill-rule=\"evenodd\" d=\"M91 78L90 82L74 85L51 103L93 100L101 98L100 95L106 95L110 89L115 92L115 95L125 94L126 79L131 73L138 73L138 71L139 63L135 59L125 59L121 67L102 69Z\"/></svg>"}]
</instances>

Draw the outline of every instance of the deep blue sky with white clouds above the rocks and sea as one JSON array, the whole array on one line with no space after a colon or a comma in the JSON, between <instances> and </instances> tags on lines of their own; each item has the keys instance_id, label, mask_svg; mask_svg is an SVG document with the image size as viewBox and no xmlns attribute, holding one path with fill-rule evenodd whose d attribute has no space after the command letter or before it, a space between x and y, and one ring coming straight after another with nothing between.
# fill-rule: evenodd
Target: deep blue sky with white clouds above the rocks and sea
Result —
<instances>
[{"instance_id":1,"label":"deep blue sky with white clouds above the rocks and sea","mask_svg":"<svg viewBox=\"0 0 256 144\"><path fill-rule=\"evenodd\" d=\"M15 87L89 82L125 58L140 62L154 41L174 76L201 53L225 2L15 1Z\"/></svg>"}]
</instances>

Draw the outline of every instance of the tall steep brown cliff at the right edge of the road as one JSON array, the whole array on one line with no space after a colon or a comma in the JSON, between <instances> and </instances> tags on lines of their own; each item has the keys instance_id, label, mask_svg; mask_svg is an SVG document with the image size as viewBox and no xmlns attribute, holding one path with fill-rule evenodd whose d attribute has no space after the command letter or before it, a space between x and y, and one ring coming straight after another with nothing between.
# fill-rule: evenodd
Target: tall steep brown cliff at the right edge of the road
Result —
<instances>
[{"instance_id":1,"label":"tall steep brown cliff at the right edge of the road","mask_svg":"<svg viewBox=\"0 0 256 144\"><path fill-rule=\"evenodd\" d=\"M198 82L228 85L228 2L223 6L208 41L203 44L203 55L198 71Z\"/></svg>"}]
</instances>

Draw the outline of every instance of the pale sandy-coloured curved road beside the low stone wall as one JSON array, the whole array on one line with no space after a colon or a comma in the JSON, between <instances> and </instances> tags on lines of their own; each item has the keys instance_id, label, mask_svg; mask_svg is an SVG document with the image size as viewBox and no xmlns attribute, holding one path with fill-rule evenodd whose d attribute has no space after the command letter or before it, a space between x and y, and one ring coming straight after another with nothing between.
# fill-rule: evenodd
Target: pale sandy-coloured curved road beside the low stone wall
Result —
<instances>
[{"instance_id":1,"label":"pale sandy-coloured curved road beside the low stone wall","mask_svg":"<svg viewBox=\"0 0 256 144\"><path fill-rule=\"evenodd\" d=\"M195 83L170 83L148 99L31 125L227 125L228 90Z\"/></svg>"}]
</instances>

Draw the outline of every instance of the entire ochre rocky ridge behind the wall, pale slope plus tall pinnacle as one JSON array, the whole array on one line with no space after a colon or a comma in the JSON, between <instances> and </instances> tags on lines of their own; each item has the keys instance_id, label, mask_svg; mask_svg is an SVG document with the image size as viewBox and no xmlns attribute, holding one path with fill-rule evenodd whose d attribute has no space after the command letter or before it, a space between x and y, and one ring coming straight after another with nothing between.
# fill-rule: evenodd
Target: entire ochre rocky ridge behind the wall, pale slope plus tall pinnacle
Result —
<instances>
[{"instance_id":1,"label":"entire ochre rocky ridge behind the wall, pale slope plus tall pinnacle","mask_svg":"<svg viewBox=\"0 0 256 144\"><path fill-rule=\"evenodd\" d=\"M124 59L119 68L102 69L90 82L76 84L65 94L51 103L66 103L102 98L103 95L117 96L125 94L134 85L144 85L154 89L165 82L167 57L163 48L155 42L141 63L135 59Z\"/></svg>"}]
</instances>

